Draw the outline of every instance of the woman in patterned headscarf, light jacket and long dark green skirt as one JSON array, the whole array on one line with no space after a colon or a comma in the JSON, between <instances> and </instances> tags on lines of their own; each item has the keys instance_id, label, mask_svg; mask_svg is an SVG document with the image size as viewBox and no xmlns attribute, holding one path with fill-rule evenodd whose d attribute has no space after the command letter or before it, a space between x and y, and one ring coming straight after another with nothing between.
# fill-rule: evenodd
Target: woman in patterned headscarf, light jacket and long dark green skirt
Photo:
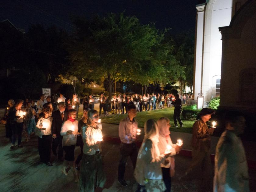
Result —
<instances>
[{"instance_id":1,"label":"woman in patterned headscarf, light jacket and long dark green skirt","mask_svg":"<svg viewBox=\"0 0 256 192\"><path fill-rule=\"evenodd\" d=\"M95 187L103 187L106 181L102 165L102 126L94 109L88 112L88 123L82 127L84 142L79 188L81 192L94 192Z\"/></svg>"}]
</instances>

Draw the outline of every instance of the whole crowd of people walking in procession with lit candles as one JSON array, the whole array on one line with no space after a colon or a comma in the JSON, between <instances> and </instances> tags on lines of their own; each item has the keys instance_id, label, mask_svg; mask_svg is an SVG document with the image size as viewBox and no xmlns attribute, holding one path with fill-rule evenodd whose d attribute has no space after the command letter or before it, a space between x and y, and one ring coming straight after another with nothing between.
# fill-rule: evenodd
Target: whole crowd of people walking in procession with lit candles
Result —
<instances>
[{"instance_id":1,"label":"whole crowd of people walking in procession with lit candles","mask_svg":"<svg viewBox=\"0 0 256 192\"><path fill-rule=\"evenodd\" d=\"M138 128L135 117L140 111L140 101L146 101L144 104L154 106L157 103L157 98L161 98L160 95L156 97L154 94L143 97L135 94L132 100L128 100L124 94L122 102L120 101L120 103L127 104L122 105L126 109L127 116L119 123L121 144L118 181L122 186L127 186L124 176L126 168L129 169L126 162L130 156L134 178L138 183L137 191L171 191L171 178L175 174L174 156L179 153L182 144L173 144L170 138L170 120L167 117L162 117L157 121L148 119L145 122L144 139L140 149L137 150L136 141L141 135L141 130ZM18 138L17 146L23 147L21 137L25 129L27 137L30 134L38 136L40 160L46 165L52 166L52 151L60 161L63 160L62 174L67 176L71 169L74 181L79 182L80 191L94 191L96 187L103 187L106 175L102 163L103 135L99 115L101 109L104 110L108 97L101 95L100 113L93 108L88 108L94 104L90 99L91 95L88 98L88 103L83 101L88 105L85 105L83 117L79 121L76 120L78 111L76 106L79 105L80 100L76 94L72 99L66 99L61 95L56 106L48 97L44 100L44 95L41 95L40 100L37 101L37 108L35 108L34 101L17 100L14 103L13 100L9 100L9 108L6 109L5 116L7 118L6 136L11 137L12 142L10 148L15 148L16 138ZM119 99L121 99L120 96L117 98L114 96L112 102L119 102ZM171 100L174 99L171 98ZM149 102L151 105L148 104ZM160 108L161 102L159 100ZM118 105L118 103L114 103L114 105ZM171 102L171 105L174 105L176 110L174 110L174 116L175 113L178 115L182 106L178 94L175 95L175 101ZM104 110L105 115L107 115L106 111L108 110ZM191 140L192 163L184 176L180 178L183 183L183 180L186 180L194 169L200 167L201 183L198 186L198 191L212 191L210 137L215 128L209 128L206 124L212 114L212 110L203 108L200 112L201 118L194 123ZM182 126L179 117L176 116L176 118ZM226 131L222 133L216 148L214 191L249 191L244 147L238 137L244 131L245 119L239 113L228 113L225 116L225 126ZM76 146L79 146L81 151L75 161ZM80 175L77 170L80 170ZM186 188L186 186L184 187Z\"/></svg>"}]
</instances>

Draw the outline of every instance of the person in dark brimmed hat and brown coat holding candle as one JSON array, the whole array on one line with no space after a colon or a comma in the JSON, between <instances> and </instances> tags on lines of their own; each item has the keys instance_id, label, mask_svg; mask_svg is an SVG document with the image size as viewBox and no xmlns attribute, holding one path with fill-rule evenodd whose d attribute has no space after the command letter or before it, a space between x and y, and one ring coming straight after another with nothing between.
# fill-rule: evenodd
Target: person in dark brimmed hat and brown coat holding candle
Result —
<instances>
[{"instance_id":1,"label":"person in dark brimmed hat and brown coat holding candle","mask_svg":"<svg viewBox=\"0 0 256 192\"><path fill-rule=\"evenodd\" d=\"M189 176L194 168L201 169L201 184L198 186L198 191L212 191L211 174L212 165L210 159L210 135L214 128L208 128L206 122L211 119L213 110L203 108L200 112L200 119L193 125L193 133L191 139L192 145L192 163L186 171L185 176Z\"/></svg>"}]
</instances>

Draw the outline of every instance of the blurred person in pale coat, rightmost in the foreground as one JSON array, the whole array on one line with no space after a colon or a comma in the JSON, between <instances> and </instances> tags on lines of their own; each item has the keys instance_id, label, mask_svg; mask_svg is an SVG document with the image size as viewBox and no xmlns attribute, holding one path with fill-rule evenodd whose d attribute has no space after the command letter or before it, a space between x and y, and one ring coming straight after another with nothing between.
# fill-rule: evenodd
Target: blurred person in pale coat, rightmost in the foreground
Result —
<instances>
[{"instance_id":1,"label":"blurred person in pale coat, rightmost in the foreground","mask_svg":"<svg viewBox=\"0 0 256 192\"><path fill-rule=\"evenodd\" d=\"M245 118L239 112L228 112L224 123L226 130L220 136L215 152L213 191L248 192L248 165L243 143L238 137L244 133Z\"/></svg>"}]
</instances>

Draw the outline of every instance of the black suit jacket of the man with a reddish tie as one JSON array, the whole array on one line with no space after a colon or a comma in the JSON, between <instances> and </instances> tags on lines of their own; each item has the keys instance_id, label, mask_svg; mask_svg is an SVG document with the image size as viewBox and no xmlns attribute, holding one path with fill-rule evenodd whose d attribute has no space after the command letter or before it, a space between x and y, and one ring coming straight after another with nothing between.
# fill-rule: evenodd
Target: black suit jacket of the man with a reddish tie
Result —
<instances>
[{"instance_id":1,"label":"black suit jacket of the man with a reddish tie","mask_svg":"<svg viewBox=\"0 0 256 192\"><path fill-rule=\"evenodd\" d=\"M52 134L56 134L57 136L60 136L62 123L68 119L68 115L69 113L64 111L64 118L62 121L59 110L52 112Z\"/></svg>"}]
</instances>

